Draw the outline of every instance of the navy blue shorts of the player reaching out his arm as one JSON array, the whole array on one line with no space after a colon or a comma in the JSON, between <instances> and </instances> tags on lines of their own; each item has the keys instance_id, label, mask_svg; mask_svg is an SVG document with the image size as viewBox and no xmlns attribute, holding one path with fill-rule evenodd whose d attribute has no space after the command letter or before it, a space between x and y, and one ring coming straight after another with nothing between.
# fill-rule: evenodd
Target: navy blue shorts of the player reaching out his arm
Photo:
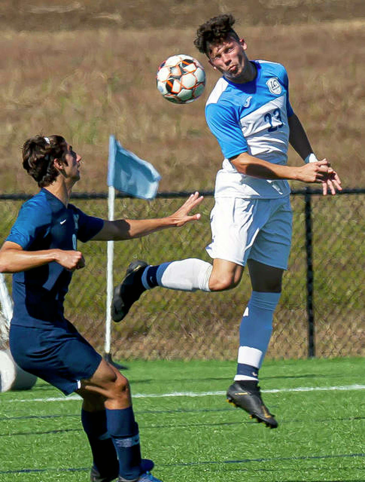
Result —
<instances>
[{"instance_id":1,"label":"navy blue shorts of the player reaching out his arm","mask_svg":"<svg viewBox=\"0 0 365 482\"><path fill-rule=\"evenodd\" d=\"M65 395L74 392L80 380L91 378L102 357L69 321L35 328L10 325L10 350L26 372L42 378Z\"/></svg>"}]
</instances>

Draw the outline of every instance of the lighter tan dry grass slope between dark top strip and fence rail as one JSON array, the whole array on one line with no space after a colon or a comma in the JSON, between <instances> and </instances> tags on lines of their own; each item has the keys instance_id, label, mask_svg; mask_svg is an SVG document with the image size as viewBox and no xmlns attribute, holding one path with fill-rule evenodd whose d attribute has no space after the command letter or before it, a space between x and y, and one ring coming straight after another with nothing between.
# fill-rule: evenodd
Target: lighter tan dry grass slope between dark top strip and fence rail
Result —
<instances>
[{"instance_id":1,"label":"lighter tan dry grass slope between dark top strip and fence rail","mask_svg":"<svg viewBox=\"0 0 365 482\"><path fill-rule=\"evenodd\" d=\"M291 103L316 153L333 162L344 186L364 186L365 20L237 29L251 58L287 67ZM204 100L217 75L195 52L194 33L2 32L1 191L34 191L19 151L39 132L64 134L85 157L82 191L106 190L109 134L155 165L160 190L211 189L221 153L205 124ZM166 102L155 85L156 66L178 52L194 54L208 74L202 98L186 106ZM289 162L300 162L292 150Z\"/></svg>"}]
</instances>

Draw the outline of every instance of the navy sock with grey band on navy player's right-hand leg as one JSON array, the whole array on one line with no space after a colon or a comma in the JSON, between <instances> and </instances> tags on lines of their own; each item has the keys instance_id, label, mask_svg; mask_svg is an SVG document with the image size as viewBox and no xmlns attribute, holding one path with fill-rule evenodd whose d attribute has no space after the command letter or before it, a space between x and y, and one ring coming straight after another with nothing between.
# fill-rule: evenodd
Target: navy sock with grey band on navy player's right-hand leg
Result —
<instances>
[{"instance_id":1,"label":"navy sock with grey band on navy player's right-hand leg","mask_svg":"<svg viewBox=\"0 0 365 482\"><path fill-rule=\"evenodd\" d=\"M119 475L126 480L137 480L141 474L141 447L132 407L106 409L106 424L117 451Z\"/></svg>"}]
</instances>

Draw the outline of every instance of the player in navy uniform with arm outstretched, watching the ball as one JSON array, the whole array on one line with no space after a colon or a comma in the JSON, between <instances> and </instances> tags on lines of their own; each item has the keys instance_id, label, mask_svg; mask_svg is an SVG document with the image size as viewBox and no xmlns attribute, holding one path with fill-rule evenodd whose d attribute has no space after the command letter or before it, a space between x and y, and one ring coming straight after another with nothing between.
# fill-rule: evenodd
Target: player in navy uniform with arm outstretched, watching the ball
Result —
<instances>
[{"instance_id":1,"label":"player in navy uniform with arm outstretched, watching the ball","mask_svg":"<svg viewBox=\"0 0 365 482\"><path fill-rule=\"evenodd\" d=\"M82 399L81 421L93 455L91 482L161 482L153 462L141 459L127 378L64 317L72 272L85 266L80 241L128 240L197 220L189 215L202 197L192 194L159 219L107 221L69 203L79 180L80 156L59 135L36 136L23 146L23 166L41 187L26 201L0 249L0 272L13 274L10 349L27 372L65 395Z\"/></svg>"}]
</instances>

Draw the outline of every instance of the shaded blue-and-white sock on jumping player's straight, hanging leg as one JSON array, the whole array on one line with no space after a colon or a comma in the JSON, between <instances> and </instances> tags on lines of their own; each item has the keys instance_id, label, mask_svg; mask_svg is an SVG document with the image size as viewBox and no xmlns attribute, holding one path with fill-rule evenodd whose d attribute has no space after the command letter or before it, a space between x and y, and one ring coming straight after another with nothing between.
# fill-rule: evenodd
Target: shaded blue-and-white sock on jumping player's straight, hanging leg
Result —
<instances>
[{"instance_id":1,"label":"shaded blue-and-white sock on jumping player's straight, hanging leg","mask_svg":"<svg viewBox=\"0 0 365 482\"><path fill-rule=\"evenodd\" d=\"M235 380L257 380L269 345L273 315L280 293L253 291L239 327Z\"/></svg>"}]
</instances>

